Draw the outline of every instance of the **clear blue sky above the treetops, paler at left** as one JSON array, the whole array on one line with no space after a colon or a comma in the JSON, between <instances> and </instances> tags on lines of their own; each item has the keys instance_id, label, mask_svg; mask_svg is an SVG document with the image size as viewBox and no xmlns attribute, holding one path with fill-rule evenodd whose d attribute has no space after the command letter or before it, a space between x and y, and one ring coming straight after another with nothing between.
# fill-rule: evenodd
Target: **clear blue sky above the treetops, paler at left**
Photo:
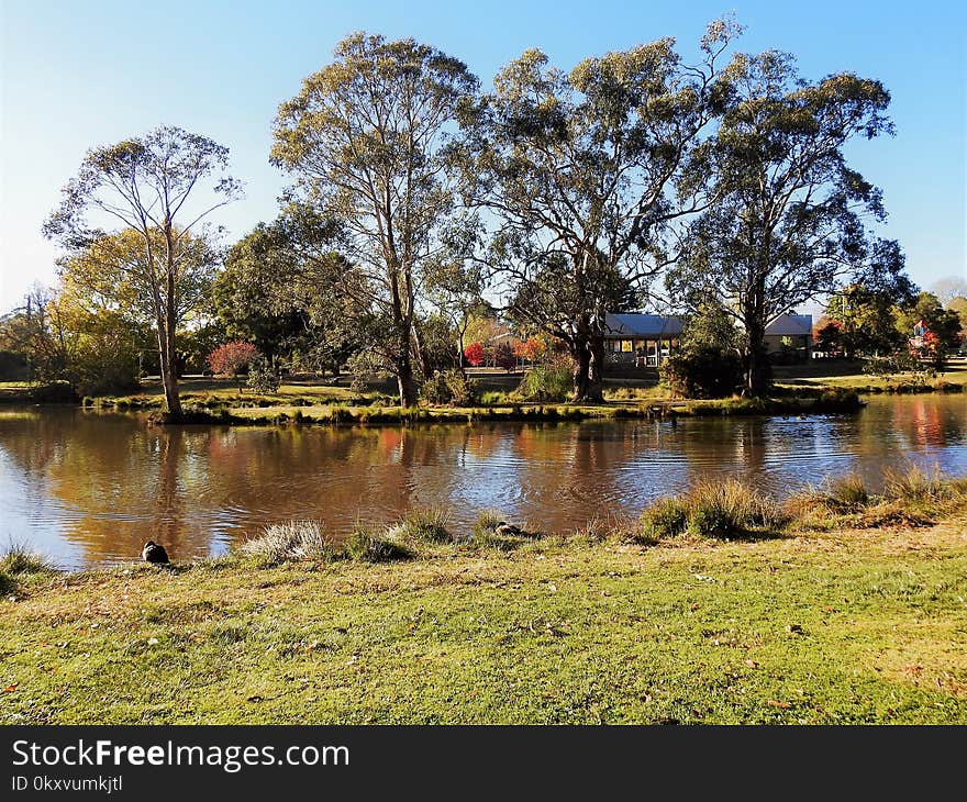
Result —
<instances>
[{"instance_id":1,"label":"clear blue sky above the treetops, paler at left","mask_svg":"<svg viewBox=\"0 0 967 802\"><path fill-rule=\"evenodd\" d=\"M848 159L882 188L880 233L899 240L912 278L967 278L959 2L0 0L0 314L55 282L41 225L89 147L159 124L204 134L230 148L245 183L245 199L213 220L227 241L273 219L288 183L268 164L276 110L354 31L413 36L489 87L535 46L569 68L670 35L693 57L708 22L729 12L746 26L735 49L790 52L809 79L848 70L883 82L896 136L851 144Z\"/></svg>"}]
</instances>

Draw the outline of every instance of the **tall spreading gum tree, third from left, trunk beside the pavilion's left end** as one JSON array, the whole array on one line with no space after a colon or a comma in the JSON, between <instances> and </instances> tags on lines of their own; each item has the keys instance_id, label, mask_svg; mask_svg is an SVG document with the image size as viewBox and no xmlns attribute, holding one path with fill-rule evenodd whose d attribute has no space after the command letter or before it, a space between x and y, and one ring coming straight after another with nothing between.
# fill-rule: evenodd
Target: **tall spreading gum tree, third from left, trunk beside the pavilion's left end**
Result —
<instances>
[{"instance_id":1,"label":"tall spreading gum tree, third from left, trunk beside the pavilion's left end","mask_svg":"<svg viewBox=\"0 0 967 802\"><path fill-rule=\"evenodd\" d=\"M601 399L604 315L637 305L643 267L663 249L659 221L697 201L690 156L715 113L716 59L737 32L710 25L698 64L670 38L570 71L532 48L460 108L451 156L464 194L492 220L488 261L511 287L511 319L582 357L576 400Z\"/></svg>"}]
</instances>

